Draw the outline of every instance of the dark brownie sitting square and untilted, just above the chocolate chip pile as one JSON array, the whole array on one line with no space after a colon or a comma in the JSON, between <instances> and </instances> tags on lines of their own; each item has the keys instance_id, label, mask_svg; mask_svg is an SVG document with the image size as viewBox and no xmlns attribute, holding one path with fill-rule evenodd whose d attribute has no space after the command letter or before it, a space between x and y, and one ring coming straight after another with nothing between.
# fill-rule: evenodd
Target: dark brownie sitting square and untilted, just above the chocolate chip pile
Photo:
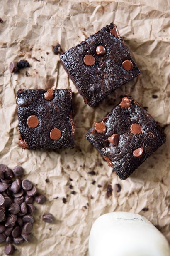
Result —
<instances>
[{"instance_id":1,"label":"dark brownie sitting square and untilted, just above the chocolate chip pile","mask_svg":"<svg viewBox=\"0 0 170 256\"><path fill-rule=\"evenodd\" d=\"M73 147L72 91L67 89L17 92L19 146L23 149Z\"/></svg>"}]
</instances>

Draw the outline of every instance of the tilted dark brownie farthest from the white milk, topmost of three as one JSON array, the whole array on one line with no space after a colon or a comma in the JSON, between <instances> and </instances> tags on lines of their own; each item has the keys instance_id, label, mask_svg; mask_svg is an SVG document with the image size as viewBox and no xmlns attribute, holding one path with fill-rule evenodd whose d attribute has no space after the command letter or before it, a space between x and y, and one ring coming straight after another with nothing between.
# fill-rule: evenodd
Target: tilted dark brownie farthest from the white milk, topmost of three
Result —
<instances>
[{"instance_id":1,"label":"tilted dark brownie farthest from the white milk, topmost of three","mask_svg":"<svg viewBox=\"0 0 170 256\"><path fill-rule=\"evenodd\" d=\"M90 106L140 74L113 23L61 54L60 59Z\"/></svg>"}]
</instances>

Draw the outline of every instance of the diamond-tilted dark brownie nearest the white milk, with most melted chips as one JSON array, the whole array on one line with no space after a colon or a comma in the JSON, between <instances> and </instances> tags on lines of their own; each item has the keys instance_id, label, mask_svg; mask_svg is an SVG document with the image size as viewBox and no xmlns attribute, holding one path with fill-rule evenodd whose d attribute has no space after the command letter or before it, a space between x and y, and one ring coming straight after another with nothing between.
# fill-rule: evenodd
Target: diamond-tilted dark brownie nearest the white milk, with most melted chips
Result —
<instances>
[{"instance_id":1,"label":"diamond-tilted dark brownie nearest the white milk, with most melted chips","mask_svg":"<svg viewBox=\"0 0 170 256\"><path fill-rule=\"evenodd\" d=\"M102 122L87 132L87 140L100 152L120 179L129 175L165 141L163 130L153 117L130 96Z\"/></svg>"}]
</instances>

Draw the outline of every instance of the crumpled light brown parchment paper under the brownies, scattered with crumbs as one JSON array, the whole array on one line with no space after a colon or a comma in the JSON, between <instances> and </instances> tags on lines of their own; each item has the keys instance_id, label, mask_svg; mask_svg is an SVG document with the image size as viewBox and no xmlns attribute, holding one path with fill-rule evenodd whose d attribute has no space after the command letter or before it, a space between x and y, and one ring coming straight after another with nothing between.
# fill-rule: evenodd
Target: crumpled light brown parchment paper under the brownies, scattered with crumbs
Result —
<instances>
[{"instance_id":1,"label":"crumpled light brown parchment paper under the brownies, scattered with crumbs","mask_svg":"<svg viewBox=\"0 0 170 256\"><path fill-rule=\"evenodd\" d=\"M11 168L22 165L26 177L48 197L46 204L36 204L33 242L16 246L15 255L87 256L92 223L112 211L142 214L170 241L170 2L1 0L0 17L4 21L0 23L0 163ZM51 45L60 43L64 51L68 50L112 21L142 73L91 108L83 103ZM23 58L31 65L28 76L26 69L10 74L9 63ZM75 93L75 147L24 151L17 145L16 92L20 88L51 87L72 89ZM119 102L121 94L128 93L148 107L164 127L167 142L126 181L121 181L87 142L85 134L94 120L100 121ZM95 171L96 175L91 176L88 171ZM92 180L96 181L94 185ZM106 198L108 184L113 193ZM120 192L116 184L120 184ZM75 195L70 194L72 190ZM66 204L63 197L67 198ZM54 224L41 221L46 212L55 216ZM4 244L0 255L3 248Z\"/></svg>"}]
</instances>

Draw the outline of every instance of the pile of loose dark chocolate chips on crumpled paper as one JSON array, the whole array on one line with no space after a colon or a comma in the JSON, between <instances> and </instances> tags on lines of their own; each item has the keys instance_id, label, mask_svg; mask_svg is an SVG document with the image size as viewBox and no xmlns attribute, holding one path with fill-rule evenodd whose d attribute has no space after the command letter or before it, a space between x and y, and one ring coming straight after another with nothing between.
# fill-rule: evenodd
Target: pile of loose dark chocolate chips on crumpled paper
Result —
<instances>
[{"instance_id":1,"label":"pile of loose dark chocolate chips on crumpled paper","mask_svg":"<svg viewBox=\"0 0 170 256\"><path fill-rule=\"evenodd\" d=\"M31 241L32 215L36 210L33 202L44 204L46 201L46 197L37 193L31 181L19 178L23 174L21 166L11 170L5 164L0 164L0 243L8 244L4 250L6 255L13 254L15 250L11 243ZM44 221L52 222L50 218L46 219Z\"/></svg>"}]
</instances>

